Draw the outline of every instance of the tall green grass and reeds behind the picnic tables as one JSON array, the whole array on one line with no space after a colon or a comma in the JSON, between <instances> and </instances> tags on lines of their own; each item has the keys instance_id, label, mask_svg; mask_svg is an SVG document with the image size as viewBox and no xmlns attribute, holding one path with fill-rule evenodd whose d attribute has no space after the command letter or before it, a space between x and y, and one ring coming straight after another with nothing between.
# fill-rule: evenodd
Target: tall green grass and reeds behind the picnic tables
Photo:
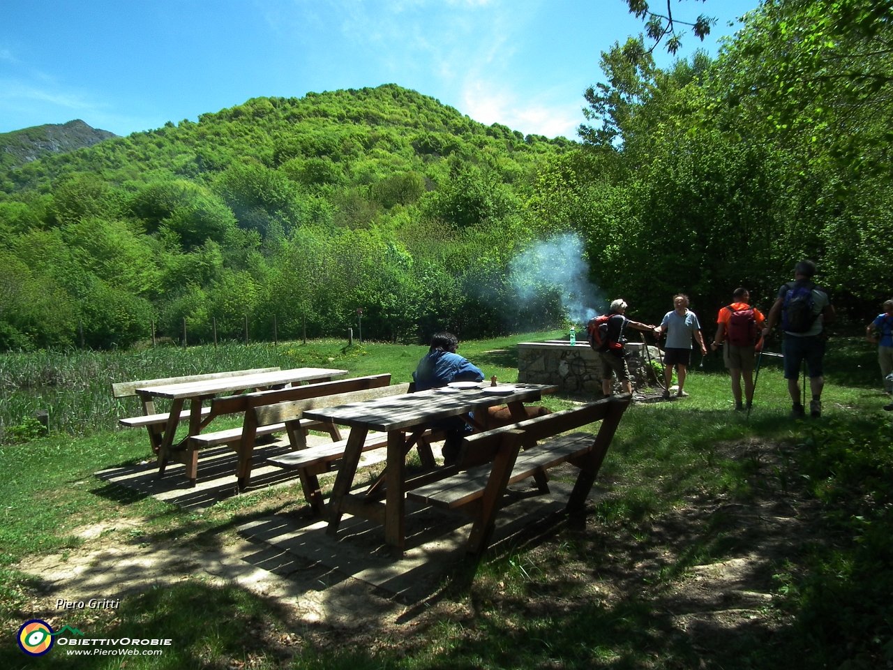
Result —
<instances>
[{"instance_id":1,"label":"tall green grass and reeds behind the picnic tables","mask_svg":"<svg viewBox=\"0 0 893 670\"><path fill-rule=\"evenodd\" d=\"M517 377L517 356L489 355L494 348L513 348L523 339L546 339L556 332L530 333L469 343L463 355L500 380ZM347 347L342 339L258 343L227 342L219 347L158 347L145 350L42 350L0 355L0 427L19 425L35 410L49 410L50 431L84 434L117 426L123 416L140 414L137 398L115 399L112 384L119 381L221 373L271 367L330 367L351 375L391 373L392 381L412 380L412 372L426 347L365 342ZM477 360L475 354L480 354ZM163 402L156 404L166 411Z\"/></svg>"}]
</instances>

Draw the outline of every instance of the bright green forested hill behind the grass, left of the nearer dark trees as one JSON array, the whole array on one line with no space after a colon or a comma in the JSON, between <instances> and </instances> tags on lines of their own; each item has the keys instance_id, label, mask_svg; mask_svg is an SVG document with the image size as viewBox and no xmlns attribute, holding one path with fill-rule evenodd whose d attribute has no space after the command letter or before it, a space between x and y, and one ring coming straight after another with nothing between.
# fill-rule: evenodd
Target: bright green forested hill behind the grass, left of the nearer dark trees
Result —
<instances>
[{"instance_id":1,"label":"bright green forested hill behind the grass, left of the nearer dark trees","mask_svg":"<svg viewBox=\"0 0 893 670\"><path fill-rule=\"evenodd\" d=\"M0 348L149 334L502 331L522 201L563 139L394 85L255 98L0 178ZM538 322L555 321L560 310Z\"/></svg>"}]
</instances>

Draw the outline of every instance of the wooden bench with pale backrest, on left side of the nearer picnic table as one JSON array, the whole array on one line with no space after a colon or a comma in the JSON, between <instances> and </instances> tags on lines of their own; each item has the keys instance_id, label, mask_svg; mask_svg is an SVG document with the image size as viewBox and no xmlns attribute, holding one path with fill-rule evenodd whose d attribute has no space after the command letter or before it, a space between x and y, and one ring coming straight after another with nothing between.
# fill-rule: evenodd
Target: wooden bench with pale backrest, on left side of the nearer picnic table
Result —
<instances>
[{"instance_id":1,"label":"wooden bench with pale backrest, on left side of the nearer picnic table","mask_svg":"<svg viewBox=\"0 0 893 670\"><path fill-rule=\"evenodd\" d=\"M287 470L296 470L301 478L301 488L304 490L304 498L307 501L307 504L310 505L314 513L325 515L326 506L322 499L320 482L317 479L317 476L322 473L330 472L332 463L344 456L347 440L338 440L332 444L324 444L318 447L308 448L306 442L303 440L303 433L295 430L296 423L302 421L302 415L309 409L341 406L347 405L348 403L361 402L363 400L386 398L388 396L407 393L408 390L409 384L396 384L394 386L388 386L386 389L371 389L368 391L345 393L341 396L331 396L329 398L314 398L312 400L258 407L255 410L257 422L284 423L288 430L289 443L294 449L289 454L268 458L267 463L278 465ZM363 442L363 451L387 446L387 433L368 433ZM419 449L422 463L433 467L434 456L430 453L430 445L428 441L423 439L421 433L419 439L414 442L414 446Z\"/></svg>"}]
</instances>

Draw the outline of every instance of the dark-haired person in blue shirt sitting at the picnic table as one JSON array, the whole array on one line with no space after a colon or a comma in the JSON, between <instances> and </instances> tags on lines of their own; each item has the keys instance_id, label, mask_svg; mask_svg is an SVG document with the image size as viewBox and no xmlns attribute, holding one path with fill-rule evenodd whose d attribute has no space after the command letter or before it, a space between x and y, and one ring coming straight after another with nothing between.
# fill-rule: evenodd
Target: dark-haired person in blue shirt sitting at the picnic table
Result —
<instances>
[{"instance_id":1,"label":"dark-haired person in blue shirt sitting at the picnic table","mask_svg":"<svg viewBox=\"0 0 893 670\"><path fill-rule=\"evenodd\" d=\"M450 381L483 381L480 368L455 353L458 346L459 340L451 332L438 332L431 338L428 353L422 356L413 373L415 390L437 389ZM444 465L453 465L463 437L472 431L471 426L461 416L450 416L431 423L431 428L446 435L442 452Z\"/></svg>"}]
</instances>

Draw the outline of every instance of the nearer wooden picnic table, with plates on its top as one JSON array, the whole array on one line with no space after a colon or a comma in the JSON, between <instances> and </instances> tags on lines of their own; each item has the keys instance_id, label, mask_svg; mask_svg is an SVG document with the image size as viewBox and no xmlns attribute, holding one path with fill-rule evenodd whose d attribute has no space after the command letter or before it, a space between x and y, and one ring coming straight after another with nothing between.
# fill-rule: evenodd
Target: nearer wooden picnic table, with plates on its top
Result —
<instances>
[{"instance_id":1,"label":"nearer wooden picnic table, with plates on its top","mask_svg":"<svg viewBox=\"0 0 893 670\"><path fill-rule=\"evenodd\" d=\"M323 409L305 411L306 418L350 426L344 458L330 498L328 533L335 536L341 516L361 516L385 527L385 541L397 552L402 552L405 540L405 492L415 486L436 482L446 476L447 468L424 473L407 481L405 455L420 439L431 422L451 416L461 416L474 431L487 430L487 408L506 404L518 421L527 418L523 404L539 400L543 393L554 393L558 387L545 384L513 384L508 395L497 395L481 382L474 389L460 391L430 389L404 396L380 398ZM473 418L467 417L472 413ZM350 493L363 443L369 431L388 433L388 465L385 475L385 502L378 499L380 488L372 485L365 495ZM409 432L407 436L406 433Z\"/></svg>"}]
</instances>

